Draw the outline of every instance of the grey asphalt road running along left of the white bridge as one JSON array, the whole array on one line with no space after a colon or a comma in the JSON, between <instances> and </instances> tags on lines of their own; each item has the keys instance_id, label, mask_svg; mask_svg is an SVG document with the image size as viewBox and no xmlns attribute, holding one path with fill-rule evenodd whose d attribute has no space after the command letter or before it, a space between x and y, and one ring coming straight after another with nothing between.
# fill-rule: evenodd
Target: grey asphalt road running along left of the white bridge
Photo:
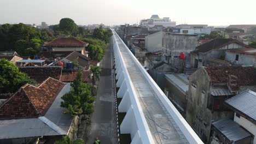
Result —
<instances>
[{"instance_id":1,"label":"grey asphalt road running along left of the white bridge","mask_svg":"<svg viewBox=\"0 0 256 144\"><path fill-rule=\"evenodd\" d=\"M117 116L115 112L113 53L111 45L101 61L101 77L98 81L94 113L86 128L85 143L92 144L96 137L101 143L118 143Z\"/></svg>"}]
</instances>

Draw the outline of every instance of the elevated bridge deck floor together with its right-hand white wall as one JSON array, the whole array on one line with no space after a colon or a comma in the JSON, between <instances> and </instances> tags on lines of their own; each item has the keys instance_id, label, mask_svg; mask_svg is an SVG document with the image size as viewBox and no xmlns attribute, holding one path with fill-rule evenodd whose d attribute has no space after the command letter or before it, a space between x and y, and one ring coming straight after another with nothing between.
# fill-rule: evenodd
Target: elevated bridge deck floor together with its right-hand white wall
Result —
<instances>
[{"instance_id":1,"label":"elevated bridge deck floor together with its right-hand white wall","mask_svg":"<svg viewBox=\"0 0 256 144\"><path fill-rule=\"evenodd\" d=\"M115 32L114 38L146 118L146 126L153 137L154 142L151 143L201 143L199 137ZM191 136L194 141L191 141Z\"/></svg>"}]
</instances>

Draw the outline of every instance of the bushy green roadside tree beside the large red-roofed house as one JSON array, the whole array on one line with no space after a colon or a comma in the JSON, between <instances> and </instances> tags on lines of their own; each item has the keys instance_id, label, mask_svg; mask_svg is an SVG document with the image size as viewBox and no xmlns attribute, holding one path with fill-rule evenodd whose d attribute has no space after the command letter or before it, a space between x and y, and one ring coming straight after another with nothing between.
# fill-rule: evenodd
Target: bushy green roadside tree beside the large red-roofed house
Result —
<instances>
[{"instance_id":1,"label":"bushy green roadside tree beside the large red-roofed house","mask_svg":"<svg viewBox=\"0 0 256 144\"><path fill-rule=\"evenodd\" d=\"M91 95L91 86L88 83L83 83L82 79L82 71L79 70L77 77L71 83L71 91L62 96L61 99L64 101L61 101L61 106L69 107L68 111L71 112L82 109L84 114L90 114L93 112L95 98ZM76 113L72 113L72 115L76 115Z\"/></svg>"}]
</instances>

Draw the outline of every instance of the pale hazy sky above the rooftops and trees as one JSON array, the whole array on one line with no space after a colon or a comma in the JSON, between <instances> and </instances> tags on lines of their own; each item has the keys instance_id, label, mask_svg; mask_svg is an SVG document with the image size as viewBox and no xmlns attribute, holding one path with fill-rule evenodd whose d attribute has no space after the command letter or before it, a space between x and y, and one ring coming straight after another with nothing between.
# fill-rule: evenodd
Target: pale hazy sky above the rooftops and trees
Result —
<instances>
[{"instance_id":1,"label":"pale hazy sky above the rooftops and trees","mask_svg":"<svg viewBox=\"0 0 256 144\"><path fill-rule=\"evenodd\" d=\"M0 0L0 23L138 23L152 14L177 24L256 24L256 0Z\"/></svg>"}]
</instances>

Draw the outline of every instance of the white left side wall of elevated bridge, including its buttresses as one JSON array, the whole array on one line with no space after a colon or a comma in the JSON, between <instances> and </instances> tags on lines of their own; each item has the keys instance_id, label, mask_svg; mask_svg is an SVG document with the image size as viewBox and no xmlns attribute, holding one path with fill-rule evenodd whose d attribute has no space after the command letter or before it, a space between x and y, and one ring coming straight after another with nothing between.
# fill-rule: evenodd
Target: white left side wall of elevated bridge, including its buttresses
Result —
<instances>
[{"instance_id":1,"label":"white left side wall of elevated bridge, including its buttresses","mask_svg":"<svg viewBox=\"0 0 256 144\"><path fill-rule=\"evenodd\" d=\"M127 101L127 103L124 103L124 104L130 105L130 106L124 105L126 107L125 109L127 109L127 107L130 107L130 108L129 110L127 110L124 121L120 125L120 132L122 133L122 131L125 131L127 133L129 131L131 134L132 143L147 143L147 144L154 143L152 134L150 133L150 130L148 127L148 123L146 121L146 118L144 117L141 105L139 104L139 100L138 100L135 88L131 82L130 75L124 64L124 59L121 55L115 35L113 35L113 38L114 38L114 58L115 58L115 63L117 64L115 65L116 66L115 68L118 70L117 75L119 75L118 83L125 82L125 85L124 83L120 84L119 91L120 90L125 91L125 92L120 92L124 94L128 92L126 96L129 96L130 98L130 99L126 99L130 101ZM126 88L122 88L122 86L125 86ZM122 99L122 101L123 100L125 99ZM121 106L121 103L119 106ZM131 113L132 115L130 115ZM129 121L127 121L127 119Z\"/></svg>"}]
</instances>

